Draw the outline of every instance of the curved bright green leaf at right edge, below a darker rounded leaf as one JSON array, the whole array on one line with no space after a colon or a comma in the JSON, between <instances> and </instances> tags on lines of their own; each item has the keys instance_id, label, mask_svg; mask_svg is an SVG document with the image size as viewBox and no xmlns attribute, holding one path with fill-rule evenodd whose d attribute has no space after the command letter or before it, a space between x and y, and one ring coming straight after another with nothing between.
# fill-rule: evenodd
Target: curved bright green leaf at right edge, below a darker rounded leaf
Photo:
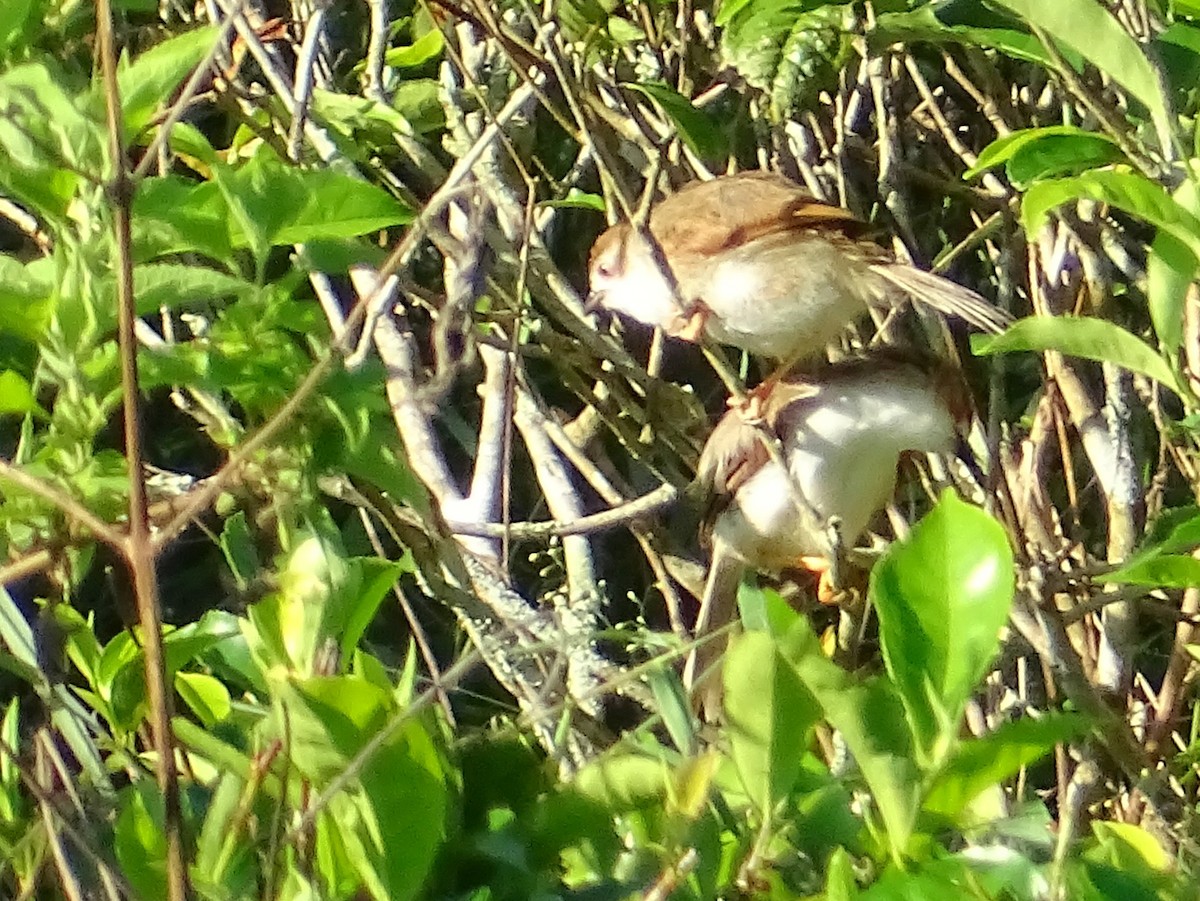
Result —
<instances>
[{"instance_id":1,"label":"curved bright green leaf at right edge, below a darker rounded leaf","mask_svg":"<svg viewBox=\"0 0 1200 901\"><path fill-rule=\"evenodd\" d=\"M1021 224L1032 236L1052 209L1080 199L1099 200L1146 220L1200 260L1200 220L1177 204L1162 185L1130 172L1097 169L1069 179L1039 181L1021 199Z\"/></svg>"}]
</instances>

